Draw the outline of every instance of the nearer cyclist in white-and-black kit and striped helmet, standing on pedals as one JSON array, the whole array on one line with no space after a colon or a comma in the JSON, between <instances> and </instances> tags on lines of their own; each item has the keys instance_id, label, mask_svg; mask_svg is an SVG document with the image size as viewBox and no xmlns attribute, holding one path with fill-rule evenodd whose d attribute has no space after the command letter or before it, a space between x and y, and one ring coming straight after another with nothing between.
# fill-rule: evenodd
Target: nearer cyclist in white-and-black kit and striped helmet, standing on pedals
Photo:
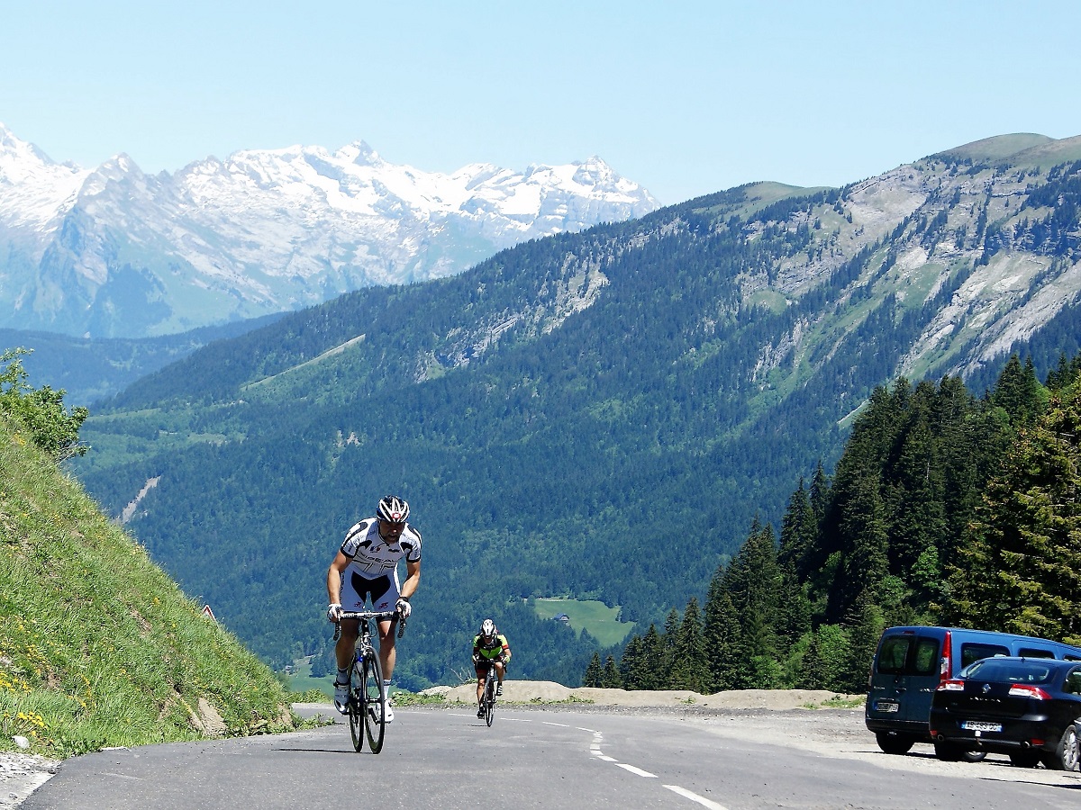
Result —
<instances>
[{"instance_id":1,"label":"nearer cyclist in white-and-black kit and striped helmet, standing on pedals","mask_svg":"<svg viewBox=\"0 0 1081 810\"><path fill-rule=\"evenodd\" d=\"M343 611L364 609L365 600L376 611L398 611L402 619L412 608L410 597L421 582L421 532L408 523L409 503L388 495L375 510L375 516L353 525L345 536L334 562L326 571L326 595L330 606L326 618L337 624L342 633L334 648L337 676L334 678L334 706L345 714L349 699L349 667L352 665L360 623L357 619L343 619ZM405 559L405 581L398 581L398 562ZM383 683L390 693L395 673L395 633L398 619L378 622L379 664ZM383 707L387 723L395 718L387 701Z\"/></svg>"}]
</instances>

